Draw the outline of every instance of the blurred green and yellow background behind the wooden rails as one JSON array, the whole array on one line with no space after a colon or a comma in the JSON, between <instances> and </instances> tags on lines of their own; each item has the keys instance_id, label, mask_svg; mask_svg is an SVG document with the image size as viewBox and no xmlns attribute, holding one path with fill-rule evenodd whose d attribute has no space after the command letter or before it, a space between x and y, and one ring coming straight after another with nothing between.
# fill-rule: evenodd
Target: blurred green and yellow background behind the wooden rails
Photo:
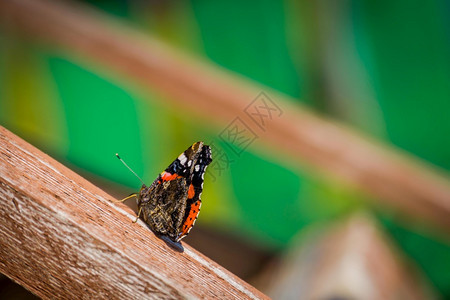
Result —
<instances>
[{"instance_id":1,"label":"blurred green and yellow background behind the wooden rails","mask_svg":"<svg viewBox=\"0 0 450 300\"><path fill-rule=\"evenodd\" d=\"M450 170L449 1L89 2ZM0 124L84 174L131 192L140 184L116 152L151 183L194 141L223 146L221 128L164 102L70 52L0 32ZM268 252L312 224L369 209L450 298L448 240L282 158L246 150L206 175L203 200L197 226Z\"/></svg>"}]
</instances>

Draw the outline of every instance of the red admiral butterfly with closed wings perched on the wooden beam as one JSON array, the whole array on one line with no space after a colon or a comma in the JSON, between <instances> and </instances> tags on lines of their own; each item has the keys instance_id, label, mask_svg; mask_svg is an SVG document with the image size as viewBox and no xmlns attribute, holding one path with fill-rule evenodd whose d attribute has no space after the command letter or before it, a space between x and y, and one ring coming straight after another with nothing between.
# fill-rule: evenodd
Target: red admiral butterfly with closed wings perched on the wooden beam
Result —
<instances>
[{"instance_id":1,"label":"red admiral butterfly with closed wings perched on the wooden beam","mask_svg":"<svg viewBox=\"0 0 450 300\"><path fill-rule=\"evenodd\" d=\"M152 185L146 186L136 175L142 182L141 190L119 202L136 197L139 211L134 222L141 217L161 238L178 243L188 235L198 217L203 177L211 161L211 148L197 142L159 174Z\"/></svg>"}]
</instances>

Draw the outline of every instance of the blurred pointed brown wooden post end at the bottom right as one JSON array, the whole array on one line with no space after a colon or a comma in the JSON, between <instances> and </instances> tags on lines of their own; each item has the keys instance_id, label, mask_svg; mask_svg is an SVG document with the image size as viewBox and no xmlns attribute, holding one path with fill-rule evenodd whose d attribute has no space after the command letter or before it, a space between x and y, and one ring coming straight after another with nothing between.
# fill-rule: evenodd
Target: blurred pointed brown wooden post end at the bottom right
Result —
<instances>
[{"instance_id":1,"label":"blurred pointed brown wooden post end at the bottom right","mask_svg":"<svg viewBox=\"0 0 450 300\"><path fill-rule=\"evenodd\" d=\"M436 299L368 215L310 231L293 246L265 292L274 299Z\"/></svg>"}]
</instances>

